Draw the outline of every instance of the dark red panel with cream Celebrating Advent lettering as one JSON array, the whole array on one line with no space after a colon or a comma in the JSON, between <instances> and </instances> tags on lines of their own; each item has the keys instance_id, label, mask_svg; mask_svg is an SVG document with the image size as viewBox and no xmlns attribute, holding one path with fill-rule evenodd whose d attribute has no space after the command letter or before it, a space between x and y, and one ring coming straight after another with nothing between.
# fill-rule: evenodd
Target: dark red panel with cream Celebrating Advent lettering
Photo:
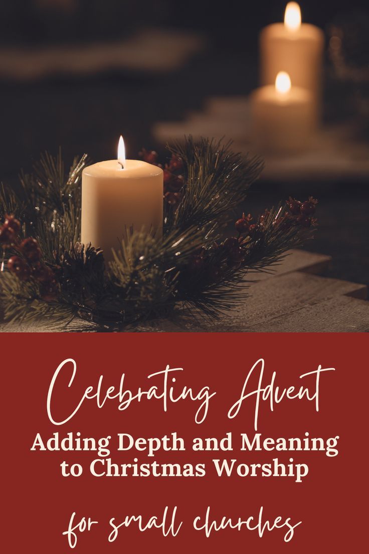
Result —
<instances>
[{"instance_id":1,"label":"dark red panel with cream Celebrating Advent lettering","mask_svg":"<svg viewBox=\"0 0 369 554\"><path fill-rule=\"evenodd\" d=\"M3 550L362 551L367 346L3 335Z\"/></svg>"}]
</instances>

